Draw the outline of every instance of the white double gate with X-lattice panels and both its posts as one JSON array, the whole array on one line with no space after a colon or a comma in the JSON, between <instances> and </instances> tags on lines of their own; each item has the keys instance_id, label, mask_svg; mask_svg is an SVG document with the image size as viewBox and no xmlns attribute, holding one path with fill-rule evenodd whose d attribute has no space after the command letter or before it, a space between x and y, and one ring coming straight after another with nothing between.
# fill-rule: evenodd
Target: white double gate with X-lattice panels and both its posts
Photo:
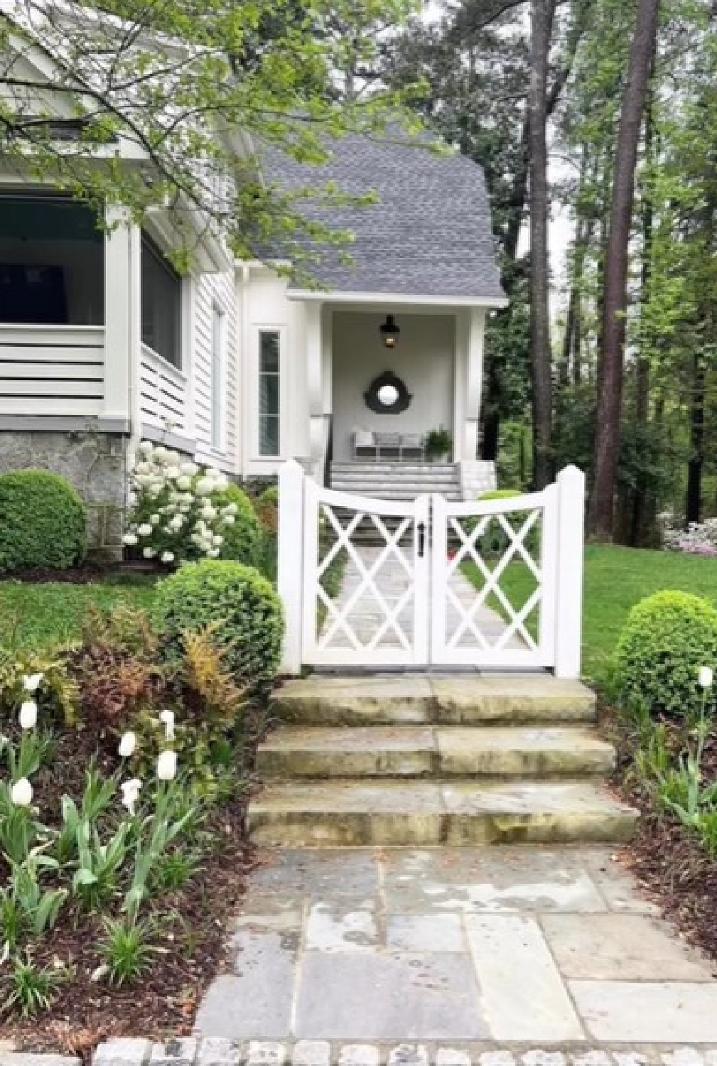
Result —
<instances>
[{"instance_id":1,"label":"white double gate with X-lattice panels and both its posts","mask_svg":"<svg viewBox=\"0 0 717 1066\"><path fill-rule=\"evenodd\" d=\"M584 477L450 503L279 488L284 669L303 665L554 667L580 675Z\"/></svg>"}]
</instances>

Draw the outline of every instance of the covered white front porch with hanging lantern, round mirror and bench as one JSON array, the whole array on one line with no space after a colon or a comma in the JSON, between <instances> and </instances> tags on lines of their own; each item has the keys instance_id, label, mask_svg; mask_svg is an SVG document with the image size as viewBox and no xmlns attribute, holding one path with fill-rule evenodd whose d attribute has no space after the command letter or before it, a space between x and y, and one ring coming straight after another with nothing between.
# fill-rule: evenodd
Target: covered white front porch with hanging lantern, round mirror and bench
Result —
<instances>
[{"instance_id":1,"label":"covered white front porch with hanging lantern, round mirror and bench","mask_svg":"<svg viewBox=\"0 0 717 1066\"><path fill-rule=\"evenodd\" d=\"M306 298L309 466L366 495L492 487L477 459L486 308Z\"/></svg>"}]
</instances>

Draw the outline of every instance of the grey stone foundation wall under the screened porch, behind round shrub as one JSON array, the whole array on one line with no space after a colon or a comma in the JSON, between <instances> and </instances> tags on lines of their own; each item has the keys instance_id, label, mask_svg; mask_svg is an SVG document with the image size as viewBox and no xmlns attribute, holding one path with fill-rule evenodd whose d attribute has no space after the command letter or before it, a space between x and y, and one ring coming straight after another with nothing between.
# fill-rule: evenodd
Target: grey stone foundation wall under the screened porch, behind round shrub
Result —
<instances>
[{"instance_id":1,"label":"grey stone foundation wall under the screened porch, behind round shrub","mask_svg":"<svg viewBox=\"0 0 717 1066\"><path fill-rule=\"evenodd\" d=\"M0 431L0 472L48 470L66 478L87 505L89 558L123 556L128 438L88 430Z\"/></svg>"}]
</instances>

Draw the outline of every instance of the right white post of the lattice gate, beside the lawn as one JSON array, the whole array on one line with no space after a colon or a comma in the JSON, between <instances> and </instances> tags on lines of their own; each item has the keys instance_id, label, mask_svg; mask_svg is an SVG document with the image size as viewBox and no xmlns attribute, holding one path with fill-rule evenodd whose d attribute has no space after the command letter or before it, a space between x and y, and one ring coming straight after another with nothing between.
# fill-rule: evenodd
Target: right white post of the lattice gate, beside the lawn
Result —
<instances>
[{"instance_id":1,"label":"right white post of the lattice gate, beside the lawn","mask_svg":"<svg viewBox=\"0 0 717 1066\"><path fill-rule=\"evenodd\" d=\"M557 475L555 676L579 678L583 639L585 474L569 466Z\"/></svg>"}]
</instances>

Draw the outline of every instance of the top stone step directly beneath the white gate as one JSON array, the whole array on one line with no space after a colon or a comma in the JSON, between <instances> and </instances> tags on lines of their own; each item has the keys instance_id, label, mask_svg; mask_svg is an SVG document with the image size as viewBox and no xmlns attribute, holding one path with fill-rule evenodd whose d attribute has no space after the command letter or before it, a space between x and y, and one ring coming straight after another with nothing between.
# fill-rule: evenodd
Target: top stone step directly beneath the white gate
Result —
<instances>
[{"instance_id":1,"label":"top stone step directly beneath the white gate","mask_svg":"<svg viewBox=\"0 0 717 1066\"><path fill-rule=\"evenodd\" d=\"M315 726L556 725L594 721L594 693L549 674L413 677L313 675L272 701L287 723Z\"/></svg>"}]
</instances>

